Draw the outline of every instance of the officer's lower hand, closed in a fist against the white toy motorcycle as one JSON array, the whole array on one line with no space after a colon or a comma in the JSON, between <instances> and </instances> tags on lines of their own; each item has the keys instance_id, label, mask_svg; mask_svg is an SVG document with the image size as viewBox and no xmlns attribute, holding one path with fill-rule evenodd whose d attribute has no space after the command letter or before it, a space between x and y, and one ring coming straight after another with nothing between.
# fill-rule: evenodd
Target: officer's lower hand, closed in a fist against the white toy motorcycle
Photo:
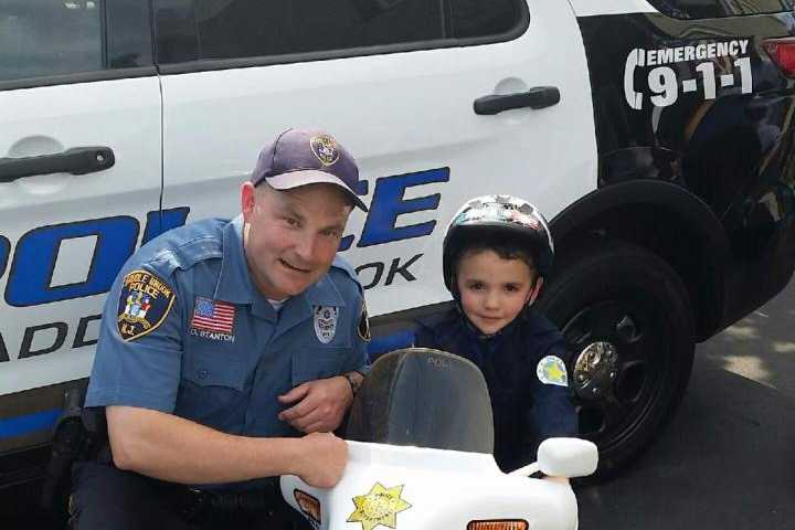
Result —
<instances>
[{"instance_id":1,"label":"officer's lower hand, closed in a fist against the white toy motorcycle","mask_svg":"<svg viewBox=\"0 0 795 530\"><path fill-rule=\"evenodd\" d=\"M310 433L299 439L303 447L296 475L316 488L331 488L339 483L348 463L348 444L331 433Z\"/></svg>"}]
</instances>

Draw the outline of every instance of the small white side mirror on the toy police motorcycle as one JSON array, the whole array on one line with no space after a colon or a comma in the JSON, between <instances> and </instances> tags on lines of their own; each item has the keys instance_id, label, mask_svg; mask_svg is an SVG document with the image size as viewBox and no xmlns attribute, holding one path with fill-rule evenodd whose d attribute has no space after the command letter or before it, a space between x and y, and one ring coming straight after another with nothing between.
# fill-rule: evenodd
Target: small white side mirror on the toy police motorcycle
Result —
<instances>
[{"instance_id":1,"label":"small white side mirror on the toy police motorcycle","mask_svg":"<svg viewBox=\"0 0 795 530\"><path fill-rule=\"evenodd\" d=\"M538 451L538 467L554 477L585 477L596 470L596 445L580 438L548 438Z\"/></svg>"}]
</instances>

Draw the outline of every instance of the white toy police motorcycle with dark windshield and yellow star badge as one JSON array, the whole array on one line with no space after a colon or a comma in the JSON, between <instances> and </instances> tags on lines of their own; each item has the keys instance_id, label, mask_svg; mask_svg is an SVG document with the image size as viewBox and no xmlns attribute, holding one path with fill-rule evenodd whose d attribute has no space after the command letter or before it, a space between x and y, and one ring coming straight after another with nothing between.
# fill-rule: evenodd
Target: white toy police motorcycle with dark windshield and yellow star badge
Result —
<instances>
[{"instance_id":1,"label":"white toy police motorcycle with dark windshield and yellow star badge","mask_svg":"<svg viewBox=\"0 0 795 530\"><path fill-rule=\"evenodd\" d=\"M506 474L490 454L491 404L475 364L411 348L382 356L354 400L340 481L314 488L280 477L282 495L316 530L576 530L566 480L596 469L596 446L541 443L538 463Z\"/></svg>"}]
</instances>

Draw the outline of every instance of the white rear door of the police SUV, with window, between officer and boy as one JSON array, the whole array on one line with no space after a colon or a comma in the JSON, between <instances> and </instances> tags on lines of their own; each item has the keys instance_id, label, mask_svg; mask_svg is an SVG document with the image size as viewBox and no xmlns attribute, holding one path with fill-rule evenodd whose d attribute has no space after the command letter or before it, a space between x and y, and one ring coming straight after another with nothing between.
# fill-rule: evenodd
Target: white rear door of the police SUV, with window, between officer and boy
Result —
<instances>
[{"instance_id":1,"label":"white rear door of the police SUV, with window, between officer and boy","mask_svg":"<svg viewBox=\"0 0 795 530\"><path fill-rule=\"evenodd\" d=\"M342 248L371 314L447 299L441 243L464 200L553 215L595 187L580 32L565 1L160 0L167 208L239 211L259 149L327 129L370 213Z\"/></svg>"}]
</instances>

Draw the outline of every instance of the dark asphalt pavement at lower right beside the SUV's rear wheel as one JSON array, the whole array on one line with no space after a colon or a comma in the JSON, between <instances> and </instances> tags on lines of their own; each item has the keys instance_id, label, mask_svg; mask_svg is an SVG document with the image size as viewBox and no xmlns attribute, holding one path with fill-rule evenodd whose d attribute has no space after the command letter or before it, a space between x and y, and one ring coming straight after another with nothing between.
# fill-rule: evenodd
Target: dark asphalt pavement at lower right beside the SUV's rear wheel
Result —
<instances>
[{"instance_id":1,"label":"dark asphalt pavement at lower right beside the SUV's rear wheel","mask_svg":"<svg viewBox=\"0 0 795 530\"><path fill-rule=\"evenodd\" d=\"M577 498L582 530L795 529L795 282L699 344L668 428Z\"/></svg>"}]
</instances>

